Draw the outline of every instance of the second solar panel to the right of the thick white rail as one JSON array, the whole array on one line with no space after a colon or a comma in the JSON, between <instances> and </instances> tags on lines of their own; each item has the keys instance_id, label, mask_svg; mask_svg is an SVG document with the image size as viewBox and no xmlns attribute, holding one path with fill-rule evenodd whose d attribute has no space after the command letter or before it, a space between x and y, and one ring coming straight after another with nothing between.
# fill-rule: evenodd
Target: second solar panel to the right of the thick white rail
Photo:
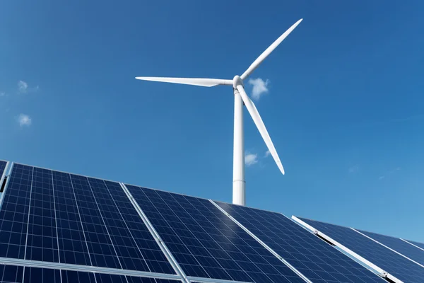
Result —
<instances>
[{"instance_id":1,"label":"second solar panel to the right of the thick white rail","mask_svg":"<svg viewBox=\"0 0 424 283\"><path fill-rule=\"evenodd\" d=\"M411 260L415 260L421 265L424 265L424 250L420 250L419 248L416 248L411 244L402 241L400 238L384 236L377 233L371 233L362 230L358 231L360 231L360 233L364 233L365 235L373 238L376 241L379 241L379 243L382 243L384 246L392 248L396 250L396 252L401 253L402 255L405 255L408 258L411 258Z\"/></svg>"}]
</instances>

